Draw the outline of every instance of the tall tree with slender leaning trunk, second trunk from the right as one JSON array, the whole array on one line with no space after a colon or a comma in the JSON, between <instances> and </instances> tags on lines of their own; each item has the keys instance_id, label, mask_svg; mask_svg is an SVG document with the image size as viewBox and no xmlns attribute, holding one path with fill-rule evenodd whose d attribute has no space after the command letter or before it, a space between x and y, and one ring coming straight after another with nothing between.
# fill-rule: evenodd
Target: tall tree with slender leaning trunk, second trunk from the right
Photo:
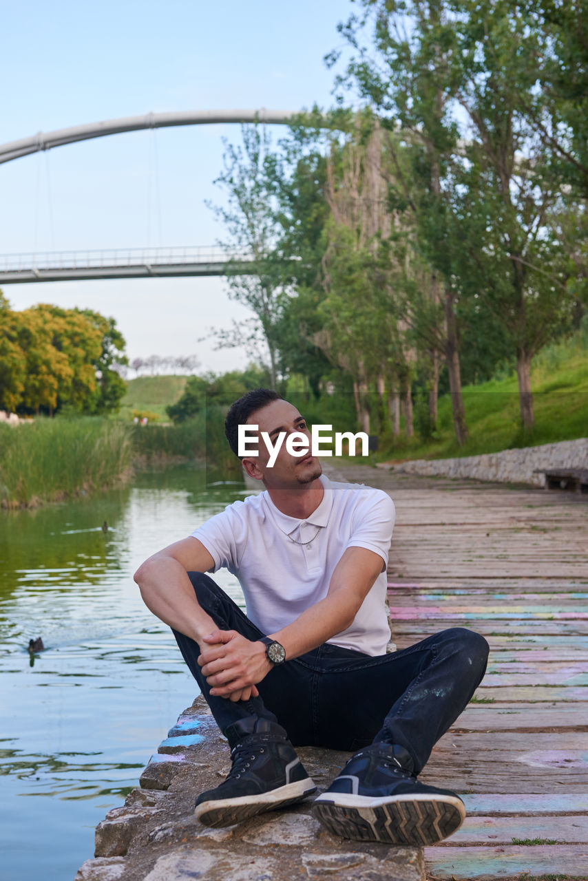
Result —
<instances>
[{"instance_id":1,"label":"tall tree with slender leaning trunk, second trunk from the right","mask_svg":"<svg viewBox=\"0 0 588 881\"><path fill-rule=\"evenodd\" d=\"M428 293L434 307L443 305L443 335L431 335L431 354L435 366L439 349L443 351L456 439L461 444L468 433L456 316L460 290L448 266L450 242L443 234L444 218L439 211L445 169L458 140L451 115L457 84L452 73L453 35L444 20L447 4L445 0L359 0L359 5L362 12L339 26L355 54L338 82L356 88L391 132L389 148L396 156L398 182L421 227L417 238L421 256L433 270ZM362 41L368 29L371 44L366 46ZM337 53L327 56L330 64L338 59ZM392 137L398 130L401 137ZM412 150L409 175L403 172L398 146ZM431 237L434 215L437 234Z\"/></svg>"}]
</instances>

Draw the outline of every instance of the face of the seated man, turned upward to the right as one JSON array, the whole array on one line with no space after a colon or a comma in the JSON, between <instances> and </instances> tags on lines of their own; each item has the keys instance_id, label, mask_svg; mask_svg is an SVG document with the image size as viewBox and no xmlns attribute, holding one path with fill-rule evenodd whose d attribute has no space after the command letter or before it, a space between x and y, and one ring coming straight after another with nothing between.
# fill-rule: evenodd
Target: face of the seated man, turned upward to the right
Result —
<instances>
[{"instance_id":1,"label":"face of the seated man, turned upward to the right","mask_svg":"<svg viewBox=\"0 0 588 881\"><path fill-rule=\"evenodd\" d=\"M257 433L257 456L245 456L244 463L253 463L254 472L251 477L264 481L268 488L287 489L309 484L322 473L321 465L315 456L310 455L310 432L306 420L298 410L287 401L272 401L261 410L252 413L247 420L248 425L259 426ZM270 451L266 447L261 433L267 432L270 441L275 445L280 432L285 433L279 453L272 467L269 466ZM308 438L309 451L303 456L288 453L286 441L288 435L297 432ZM248 468L249 470L249 468Z\"/></svg>"}]
</instances>

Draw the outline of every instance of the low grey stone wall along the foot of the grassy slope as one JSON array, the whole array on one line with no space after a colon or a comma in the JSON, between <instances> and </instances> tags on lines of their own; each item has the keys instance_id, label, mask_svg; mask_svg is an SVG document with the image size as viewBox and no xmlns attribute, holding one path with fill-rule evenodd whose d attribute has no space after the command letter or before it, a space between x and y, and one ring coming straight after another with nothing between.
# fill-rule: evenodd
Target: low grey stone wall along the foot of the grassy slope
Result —
<instances>
[{"instance_id":1,"label":"low grey stone wall along the foot of the grassy slope","mask_svg":"<svg viewBox=\"0 0 588 881\"><path fill-rule=\"evenodd\" d=\"M545 476L535 474L537 469L588 468L588 438L547 443L540 447L504 449L500 453L468 455L461 459L415 459L393 467L395 472L426 477L544 486Z\"/></svg>"}]
</instances>

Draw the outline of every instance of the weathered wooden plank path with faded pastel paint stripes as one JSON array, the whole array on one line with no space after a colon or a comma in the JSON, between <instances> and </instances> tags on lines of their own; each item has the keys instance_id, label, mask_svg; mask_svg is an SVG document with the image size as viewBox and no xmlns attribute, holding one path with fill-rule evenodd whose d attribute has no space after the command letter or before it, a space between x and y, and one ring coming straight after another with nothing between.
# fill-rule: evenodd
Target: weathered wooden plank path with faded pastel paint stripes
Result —
<instances>
[{"instance_id":1,"label":"weathered wooden plank path with faded pastel paint stripes","mask_svg":"<svg viewBox=\"0 0 588 881\"><path fill-rule=\"evenodd\" d=\"M428 877L588 878L588 500L350 464L338 472L396 503L398 648L452 626L490 643L473 703L421 775L455 788L468 809L458 833L425 849Z\"/></svg>"}]
</instances>

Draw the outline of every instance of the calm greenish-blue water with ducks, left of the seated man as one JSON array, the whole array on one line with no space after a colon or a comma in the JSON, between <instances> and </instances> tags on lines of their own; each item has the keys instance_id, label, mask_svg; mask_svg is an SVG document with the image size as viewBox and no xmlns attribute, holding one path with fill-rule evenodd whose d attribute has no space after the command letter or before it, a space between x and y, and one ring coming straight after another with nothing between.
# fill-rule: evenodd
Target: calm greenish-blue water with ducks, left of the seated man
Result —
<instances>
[{"instance_id":1,"label":"calm greenish-blue water with ducks, left of the seated man","mask_svg":"<svg viewBox=\"0 0 588 881\"><path fill-rule=\"evenodd\" d=\"M248 494L182 467L74 504L0 512L2 881L71 881L93 856L94 826L197 694L132 574ZM231 575L215 577L242 603ZM37 636L46 650L31 666Z\"/></svg>"}]
</instances>

